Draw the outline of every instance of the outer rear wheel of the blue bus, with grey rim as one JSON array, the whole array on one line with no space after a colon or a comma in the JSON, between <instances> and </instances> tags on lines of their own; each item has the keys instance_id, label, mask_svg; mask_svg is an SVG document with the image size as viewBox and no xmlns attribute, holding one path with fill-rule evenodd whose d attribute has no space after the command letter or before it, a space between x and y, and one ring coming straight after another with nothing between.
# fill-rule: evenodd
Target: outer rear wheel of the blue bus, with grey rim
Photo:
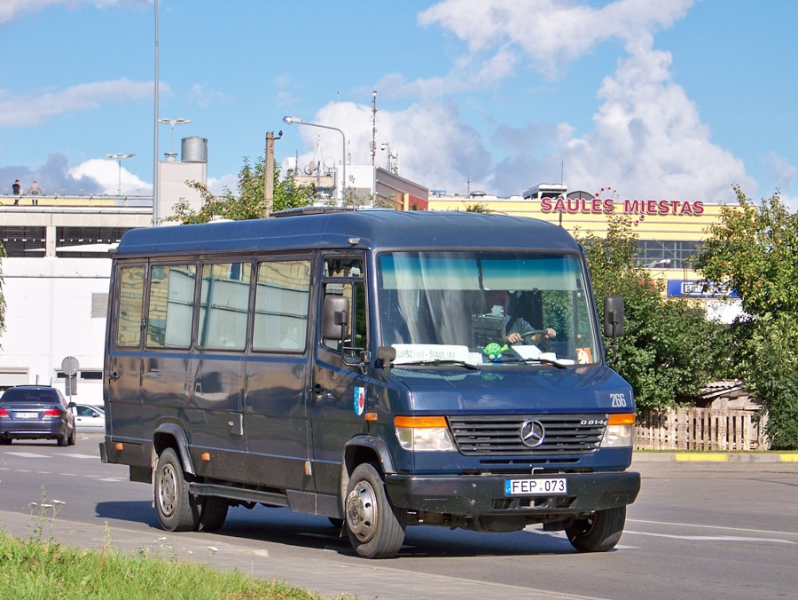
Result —
<instances>
[{"instance_id":1,"label":"outer rear wheel of the blue bus, with grey rim","mask_svg":"<svg viewBox=\"0 0 798 600\"><path fill-rule=\"evenodd\" d=\"M153 484L155 509L160 525L168 532L190 532L200 523L197 501L189 492L183 465L174 449L167 448L158 457Z\"/></svg>"}]
</instances>

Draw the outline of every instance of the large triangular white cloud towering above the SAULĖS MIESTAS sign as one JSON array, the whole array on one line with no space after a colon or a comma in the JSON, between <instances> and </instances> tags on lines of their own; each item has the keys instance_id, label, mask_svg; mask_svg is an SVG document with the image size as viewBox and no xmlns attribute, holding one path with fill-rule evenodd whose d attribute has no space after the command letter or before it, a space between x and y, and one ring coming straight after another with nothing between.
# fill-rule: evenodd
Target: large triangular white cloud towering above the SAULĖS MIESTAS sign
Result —
<instances>
[{"instance_id":1,"label":"large triangular white cloud towering above the SAUL\u0116S MIESTAS sign","mask_svg":"<svg viewBox=\"0 0 798 600\"><path fill-rule=\"evenodd\" d=\"M568 182L624 197L728 201L731 186L755 186L742 161L716 146L682 87L668 52L638 49L606 77L595 129L561 148Z\"/></svg>"}]
</instances>

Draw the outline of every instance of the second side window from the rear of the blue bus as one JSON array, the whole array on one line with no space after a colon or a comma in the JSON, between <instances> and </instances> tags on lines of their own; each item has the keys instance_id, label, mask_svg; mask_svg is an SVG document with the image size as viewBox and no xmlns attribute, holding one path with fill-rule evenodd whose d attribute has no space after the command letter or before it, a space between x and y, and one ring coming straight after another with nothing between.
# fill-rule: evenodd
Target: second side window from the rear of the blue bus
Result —
<instances>
[{"instance_id":1,"label":"second side window from the rear of the blue bus","mask_svg":"<svg viewBox=\"0 0 798 600\"><path fill-rule=\"evenodd\" d=\"M193 264L153 266L147 315L148 347L188 348L191 344L196 271Z\"/></svg>"}]
</instances>

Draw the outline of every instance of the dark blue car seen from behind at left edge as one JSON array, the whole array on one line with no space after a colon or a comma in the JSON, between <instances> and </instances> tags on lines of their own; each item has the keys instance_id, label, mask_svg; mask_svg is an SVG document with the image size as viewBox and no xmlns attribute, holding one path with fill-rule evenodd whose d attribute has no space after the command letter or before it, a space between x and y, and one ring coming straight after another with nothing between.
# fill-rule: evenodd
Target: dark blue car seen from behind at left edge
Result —
<instances>
[{"instance_id":1,"label":"dark blue car seen from behind at left edge","mask_svg":"<svg viewBox=\"0 0 798 600\"><path fill-rule=\"evenodd\" d=\"M0 396L0 444L14 439L55 439L74 444L74 416L64 395L49 385L18 385Z\"/></svg>"}]
</instances>

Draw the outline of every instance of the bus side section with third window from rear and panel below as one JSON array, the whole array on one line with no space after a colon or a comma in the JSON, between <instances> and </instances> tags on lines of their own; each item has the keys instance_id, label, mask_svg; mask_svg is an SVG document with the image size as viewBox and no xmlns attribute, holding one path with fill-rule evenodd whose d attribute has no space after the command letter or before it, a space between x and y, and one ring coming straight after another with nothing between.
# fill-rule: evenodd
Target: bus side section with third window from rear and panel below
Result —
<instances>
[{"instance_id":1,"label":"bus side section with third window from rear and panel below","mask_svg":"<svg viewBox=\"0 0 798 600\"><path fill-rule=\"evenodd\" d=\"M251 280L249 261L200 264L190 422L193 462L205 477L246 480L242 403ZM213 459L203 462L204 452Z\"/></svg>"}]
</instances>

